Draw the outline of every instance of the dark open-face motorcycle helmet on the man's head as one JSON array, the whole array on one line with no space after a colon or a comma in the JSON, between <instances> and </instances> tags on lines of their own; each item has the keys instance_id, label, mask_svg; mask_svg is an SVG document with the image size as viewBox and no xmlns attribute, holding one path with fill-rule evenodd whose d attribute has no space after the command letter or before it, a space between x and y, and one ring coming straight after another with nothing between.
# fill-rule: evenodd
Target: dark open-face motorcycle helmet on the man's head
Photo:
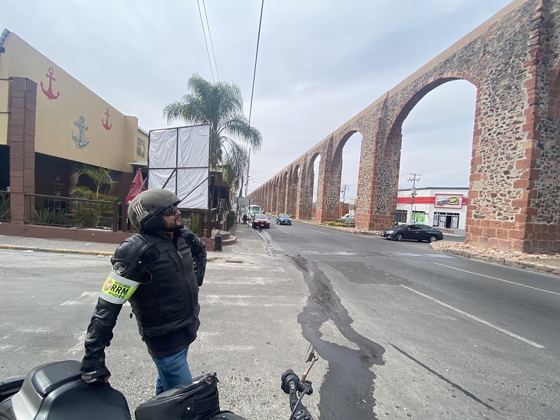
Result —
<instances>
[{"instance_id":1,"label":"dark open-face motorcycle helmet on the man's head","mask_svg":"<svg viewBox=\"0 0 560 420\"><path fill-rule=\"evenodd\" d=\"M144 230L169 230L160 212L170 205L180 203L178 196L162 188L152 188L134 197L128 204L128 219L138 232Z\"/></svg>"}]
</instances>

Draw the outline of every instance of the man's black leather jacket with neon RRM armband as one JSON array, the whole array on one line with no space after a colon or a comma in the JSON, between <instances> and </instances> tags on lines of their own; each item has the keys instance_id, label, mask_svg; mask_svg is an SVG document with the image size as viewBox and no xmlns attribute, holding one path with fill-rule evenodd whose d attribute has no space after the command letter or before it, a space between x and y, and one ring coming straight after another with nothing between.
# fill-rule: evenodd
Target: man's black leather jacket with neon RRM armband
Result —
<instances>
[{"instance_id":1,"label":"man's black leather jacket with neon RRM armband","mask_svg":"<svg viewBox=\"0 0 560 420\"><path fill-rule=\"evenodd\" d=\"M171 333L198 316L198 287L206 270L206 246L189 229L176 231L173 239L155 233L134 235L119 245L111 262L113 268L87 328L82 371L105 365L105 346L110 344L126 299L133 307L142 337ZM109 295L108 290L118 293Z\"/></svg>"}]
</instances>

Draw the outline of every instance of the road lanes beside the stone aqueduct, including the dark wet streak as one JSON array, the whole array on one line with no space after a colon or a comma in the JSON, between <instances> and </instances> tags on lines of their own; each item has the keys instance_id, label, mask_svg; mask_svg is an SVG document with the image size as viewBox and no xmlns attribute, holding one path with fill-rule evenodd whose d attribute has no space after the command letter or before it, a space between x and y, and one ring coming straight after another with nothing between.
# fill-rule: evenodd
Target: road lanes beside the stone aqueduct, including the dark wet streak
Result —
<instances>
[{"instance_id":1,"label":"road lanes beside the stone aqueduct, including the dark wet streak","mask_svg":"<svg viewBox=\"0 0 560 420\"><path fill-rule=\"evenodd\" d=\"M271 222L258 234L302 271L298 321L329 363L321 419L560 418L557 277Z\"/></svg>"}]
</instances>

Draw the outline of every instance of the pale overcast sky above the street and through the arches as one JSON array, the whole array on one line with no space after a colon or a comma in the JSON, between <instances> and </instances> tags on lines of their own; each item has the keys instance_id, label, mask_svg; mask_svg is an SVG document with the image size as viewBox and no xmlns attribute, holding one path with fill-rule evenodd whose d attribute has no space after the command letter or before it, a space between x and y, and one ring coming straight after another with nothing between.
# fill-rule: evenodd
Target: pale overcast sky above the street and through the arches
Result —
<instances>
[{"instance_id":1,"label":"pale overcast sky above the street and through the arches","mask_svg":"<svg viewBox=\"0 0 560 420\"><path fill-rule=\"evenodd\" d=\"M251 111L264 140L248 191L508 3L264 0ZM167 124L162 109L194 73L239 85L249 115L260 9L260 0L2 0L0 27L149 131L184 125ZM402 128L401 187L411 187L410 173L422 174L418 187L468 186L474 110L475 87L464 81L418 103ZM360 143L356 134L343 150L346 201Z\"/></svg>"}]
</instances>

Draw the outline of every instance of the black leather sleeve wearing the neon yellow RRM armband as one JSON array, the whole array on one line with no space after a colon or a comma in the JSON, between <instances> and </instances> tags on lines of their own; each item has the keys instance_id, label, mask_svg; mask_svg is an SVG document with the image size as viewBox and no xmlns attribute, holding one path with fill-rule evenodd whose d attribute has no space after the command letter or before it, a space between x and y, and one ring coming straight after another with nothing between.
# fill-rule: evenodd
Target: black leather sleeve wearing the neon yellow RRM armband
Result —
<instances>
[{"instance_id":1,"label":"black leather sleeve wearing the neon yellow RRM armband","mask_svg":"<svg viewBox=\"0 0 560 420\"><path fill-rule=\"evenodd\" d=\"M133 238L123 242L111 258L113 267L108 279L105 280L101 296L97 299L94 314L85 333L85 356L82 360L81 371L92 371L105 366L105 347L110 345L113 337L112 330L117 324L117 317L122 305L134 293L135 284L141 282L145 272L144 267L149 260L158 257L158 255L151 255L158 251L146 246L149 244L142 242L142 238L140 240L133 240ZM117 289L117 293L113 294L117 297L111 298L106 291L108 287L115 285L115 282L119 283L121 289ZM126 286L130 287L126 289ZM113 301L110 301L111 299Z\"/></svg>"}]
</instances>

